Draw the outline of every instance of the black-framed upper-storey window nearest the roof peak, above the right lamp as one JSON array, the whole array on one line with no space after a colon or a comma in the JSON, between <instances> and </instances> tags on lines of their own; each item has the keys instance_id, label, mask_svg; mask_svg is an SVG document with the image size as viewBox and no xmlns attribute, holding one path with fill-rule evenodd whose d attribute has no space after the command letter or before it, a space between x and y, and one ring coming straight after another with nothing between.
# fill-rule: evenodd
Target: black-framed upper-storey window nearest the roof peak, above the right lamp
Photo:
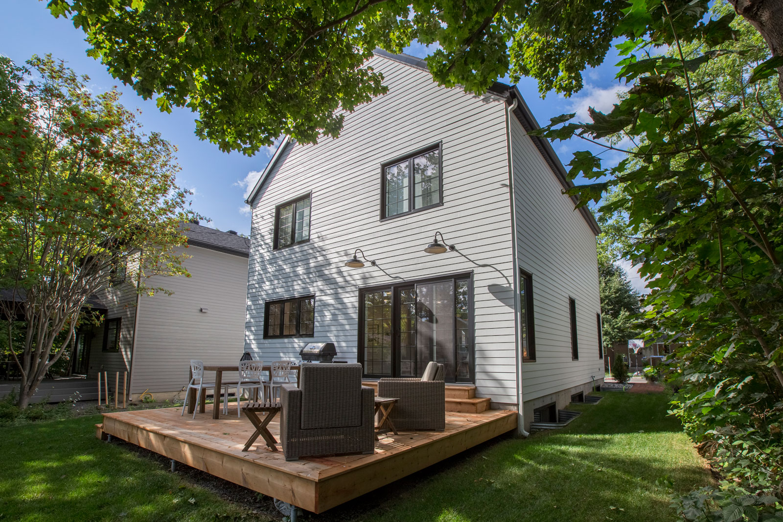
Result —
<instances>
[{"instance_id":1,"label":"black-framed upper-storey window nearest the roof peak, above the right lamp","mask_svg":"<svg viewBox=\"0 0 783 522\"><path fill-rule=\"evenodd\" d=\"M381 165L381 219L442 203L441 146Z\"/></svg>"}]
</instances>

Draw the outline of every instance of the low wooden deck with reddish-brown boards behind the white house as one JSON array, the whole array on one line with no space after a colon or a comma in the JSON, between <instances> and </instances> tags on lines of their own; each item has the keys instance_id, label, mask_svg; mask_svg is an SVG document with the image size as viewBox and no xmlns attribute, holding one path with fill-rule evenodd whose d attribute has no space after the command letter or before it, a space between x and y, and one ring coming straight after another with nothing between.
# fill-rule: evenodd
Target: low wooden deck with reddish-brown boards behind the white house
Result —
<instances>
[{"instance_id":1,"label":"low wooden deck with reddish-brown boards behind the white house","mask_svg":"<svg viewBox=\"0 0 783 522\"><path fill-rule=\"evenodd\" d=\"M260 437L251 451L242 451L253 427L244 417L236 418L236 409L218 420L212 419L209 409L197 413L196 419L180 416L180 411L106 413L98 436L113 435L313 513L323 513L517 427L517 413L507 410L446 412L446 431L381 436L373 455L287 462L282 451L270 451ZM277 419L269 428L280 440Z\"/></svg>"}]
</instances>

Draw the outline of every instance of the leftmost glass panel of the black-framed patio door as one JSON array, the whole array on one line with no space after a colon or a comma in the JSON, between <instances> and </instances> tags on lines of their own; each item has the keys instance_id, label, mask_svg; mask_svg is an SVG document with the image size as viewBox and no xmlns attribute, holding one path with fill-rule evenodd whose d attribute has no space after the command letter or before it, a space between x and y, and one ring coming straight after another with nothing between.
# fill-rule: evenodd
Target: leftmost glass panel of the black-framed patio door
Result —
<instances>
[{"instance_id":1,"label":"leftmost glass panel of the black-framed patio door","mask_svg":"<svg viewBox=\"0 0 783 522\"><path fill-rule=\"evenodd\" d=\"M364 373L391 376L391 290L364 294Z\"/></svg>"}]
</instances>

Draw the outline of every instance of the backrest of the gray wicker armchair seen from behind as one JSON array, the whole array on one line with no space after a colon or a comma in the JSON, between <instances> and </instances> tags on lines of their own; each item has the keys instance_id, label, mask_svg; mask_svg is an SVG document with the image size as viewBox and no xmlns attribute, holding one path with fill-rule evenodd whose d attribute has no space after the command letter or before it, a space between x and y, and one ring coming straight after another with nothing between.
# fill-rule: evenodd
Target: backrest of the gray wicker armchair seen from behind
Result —
<instances>
[{"instance_id":1,"label":"backrest of the gray wicker armchair seen from behind","mask_svg":"<svg viewBox=\"0 0 783 522\"><path fill-rule=\"evenodd\" d=\"M362 425L362 365L303 362L301 428Z\"/></svg>"}]
</instances>

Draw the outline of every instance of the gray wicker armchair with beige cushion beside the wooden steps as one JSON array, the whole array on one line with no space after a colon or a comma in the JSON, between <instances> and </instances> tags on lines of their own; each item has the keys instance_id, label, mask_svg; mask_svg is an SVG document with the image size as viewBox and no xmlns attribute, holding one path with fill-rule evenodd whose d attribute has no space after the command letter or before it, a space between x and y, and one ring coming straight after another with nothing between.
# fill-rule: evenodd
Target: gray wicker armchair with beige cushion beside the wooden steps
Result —
<instances>
[{"instance_id":1,"label":"gray wicker armchair with beige cushion beside the wooden steps","mask_svg":"<svg viewBox=\"0 0 783 522\"><path fill-rule=\"evenodd\" d=\"M381 379L378 396L398 398L389 418L398 430L446 430L443 365L430 362L421 379Z\"/></svg>"}]
</instances>

